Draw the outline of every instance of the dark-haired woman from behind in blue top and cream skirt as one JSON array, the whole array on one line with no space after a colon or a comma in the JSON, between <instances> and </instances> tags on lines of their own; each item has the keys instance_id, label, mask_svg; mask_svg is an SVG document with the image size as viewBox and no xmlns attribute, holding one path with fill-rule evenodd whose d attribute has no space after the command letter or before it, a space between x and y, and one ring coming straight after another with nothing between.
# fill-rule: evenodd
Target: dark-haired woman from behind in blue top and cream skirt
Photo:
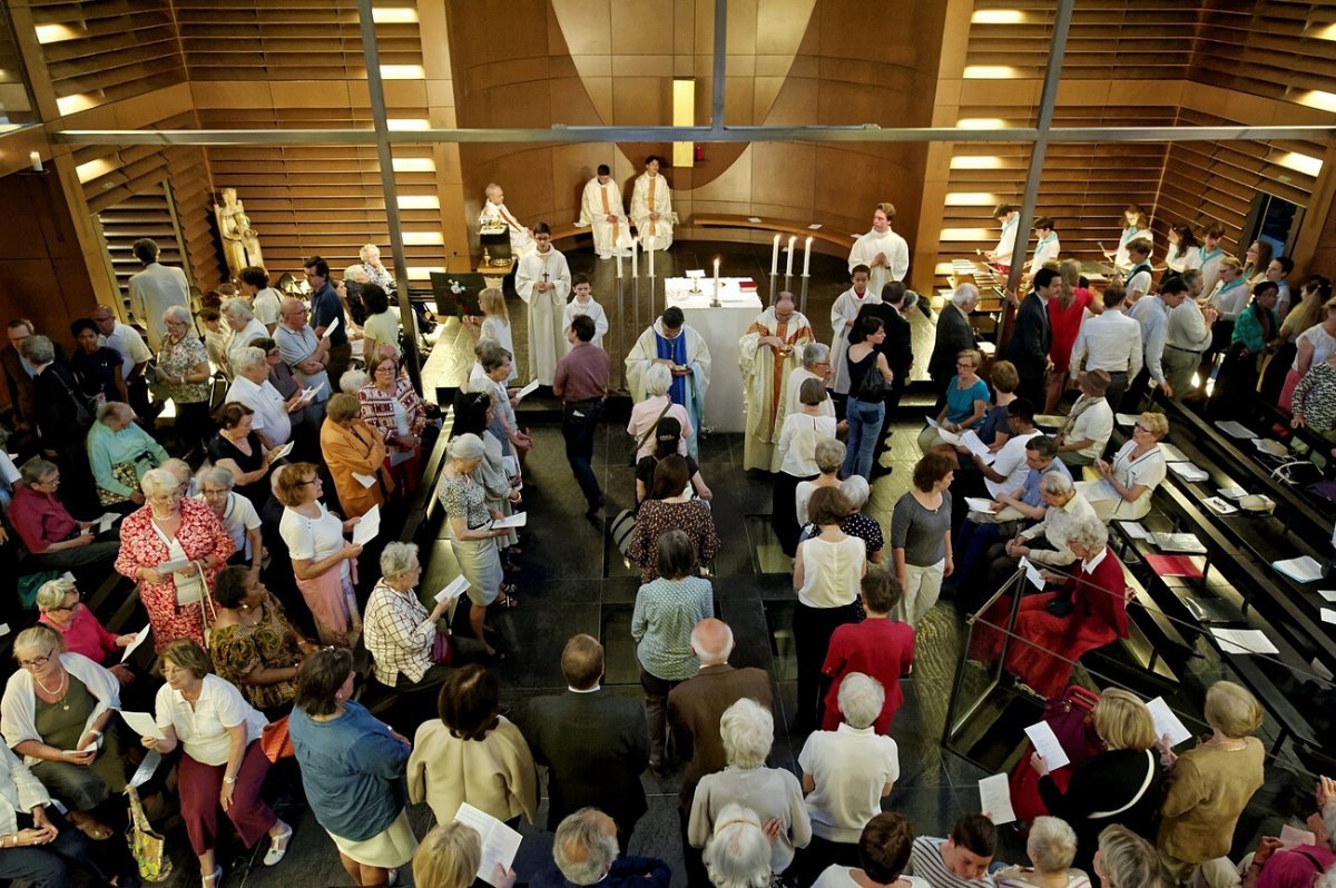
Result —
<instances>
[{"instance_id":1,"label":"dark-haired woman from behind in blue top and cream skirt","mask_svg":"<svg viewBox=\"0 0 1336 888\"><path fill-rule=\"evenodd\" d=\"M353 884L389 885L417 849L403 789L409 738L351 700L355 677L347 650L325 648L307 657L289 732L306 801Z\"/></svg>"}]
</instances>

